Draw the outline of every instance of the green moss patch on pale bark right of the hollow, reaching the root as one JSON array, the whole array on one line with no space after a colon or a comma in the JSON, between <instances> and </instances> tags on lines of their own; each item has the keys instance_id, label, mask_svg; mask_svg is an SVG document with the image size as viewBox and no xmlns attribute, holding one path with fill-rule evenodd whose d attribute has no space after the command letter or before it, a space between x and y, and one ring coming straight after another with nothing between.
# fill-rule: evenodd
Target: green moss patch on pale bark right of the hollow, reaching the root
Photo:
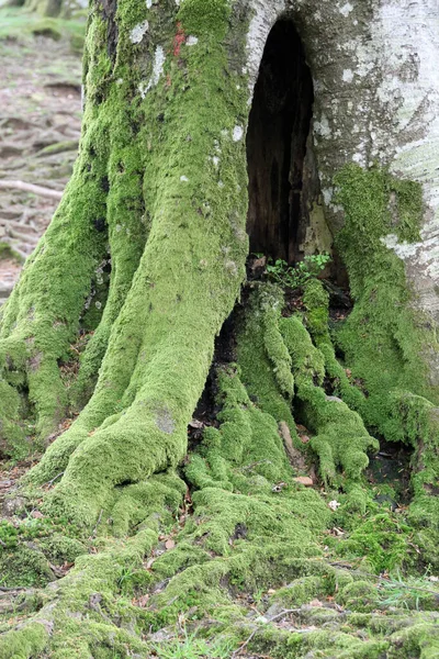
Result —
<instances>
[{"instance_id":1,"label":"green moss patch on pale bark right of the hollow, reaching the root","mask_svg":"<svg viewBox=\"0 0 439 659\"><path fill-rule=\"evenodd\" d=\"M356 166L346 167L336 183L346 214L336 243L354 298L337 340L352 378L363 382L361 413L367 425L415 448L418 469L425 469L414 481L415 492L432 520L436 503L427 504L421 483L431 483L439 473L434 412L438 396L428 376L428 359L438 344L428 320L415 311L404 263L382 242L389 234L403 242L419 239L420 186ZM419 514L419 506L414 510Z\"/></svg>"}]
</instances>

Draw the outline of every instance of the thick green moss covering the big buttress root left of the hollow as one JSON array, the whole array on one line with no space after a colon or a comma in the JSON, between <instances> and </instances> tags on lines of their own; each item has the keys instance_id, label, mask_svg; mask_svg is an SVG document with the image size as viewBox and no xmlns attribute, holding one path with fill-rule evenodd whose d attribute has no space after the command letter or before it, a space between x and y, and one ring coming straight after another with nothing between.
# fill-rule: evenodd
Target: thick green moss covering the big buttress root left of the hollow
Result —
<instances>
[{"instance_id":1,"label":"thick green moss covering the big buttress root left of the hollow","mask_svg":"<svg viewBox=\"0 0 439 659\"><path fill-rule=\"evenodd\" d=\"M191 16L199 9L195 2L181 8L184 31L185 23L195 31ZM182 45L177 57L172 11L151 8L150 40L133 45L131 31L145 20L145 4L119 3L114 70L99 48L105 25L94 16L89 29L87 98L109 134L112 277L102 320L82 358L79 390L93 387L99 366L100 375L86 410L32 476L45 482L68 462L50 493L52 510L66 510L80 522L98 516L115 484L181 459L214 336L244 277L246 154L244 141L233 141L233 129L244 127L247 110L244 77L224 75L227 53L219 34L228 29L227 13L215 31L200 33L196 46ZM156 56L153 44L169 54L157 85L144 92ZM142 53L134 69L133 47ZM90 130L87 116L85 123Z\"/></svg>"}]
</instances>

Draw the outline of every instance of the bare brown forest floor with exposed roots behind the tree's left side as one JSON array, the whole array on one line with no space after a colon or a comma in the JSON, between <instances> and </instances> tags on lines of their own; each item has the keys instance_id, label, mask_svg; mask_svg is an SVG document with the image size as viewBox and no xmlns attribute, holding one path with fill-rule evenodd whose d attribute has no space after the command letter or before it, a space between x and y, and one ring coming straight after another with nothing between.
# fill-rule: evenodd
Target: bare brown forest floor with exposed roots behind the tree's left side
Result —
<instances>
[{"instance_id":1,"label":"bare brown forest floor with exposed roots behind the tree's left side","mask_svg":"<svg viewBox=\"0 0 439 659\"><path fill-rule=\"evenodd\" d=\"M81 56L71 29L57 36L52 23L0 9L0 244L12 249L0 252L0 303L58 204L5 181L60 193L78 149Z\"/></svg>"}]
</instances>

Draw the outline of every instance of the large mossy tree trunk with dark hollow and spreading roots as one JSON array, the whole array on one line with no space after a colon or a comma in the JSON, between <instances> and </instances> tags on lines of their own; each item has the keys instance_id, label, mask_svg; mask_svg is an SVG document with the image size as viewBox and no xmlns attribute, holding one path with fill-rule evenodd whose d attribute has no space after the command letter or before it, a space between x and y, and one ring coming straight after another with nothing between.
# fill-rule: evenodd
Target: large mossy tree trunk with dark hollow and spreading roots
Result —
<instances>
[{"instance_id":1,"label":"large mossy tree trunk with dark hollow and spreading roots","mask_svg":"<svg viewBox=\"0 0 439 659\"><path fill-rule=\"evenodd\" d=\"M43 496L46 517L79 528L82 540L97 522L104 536L131 537L119 550L117 540L102 539L98 556L78 558L43 608L0 637L0 657L47 647L54 657L148 656L140 635L115 626L115 617L139 612L122 613L114 593L157 543L187 484L199 525L188 523L181 549L153 570L157 582L173 579L151 591L144 629L169 624L191 597L203 612L219 597L215 629L223 632L236 614L224 580L256 589L305 578L306 603L328 579L346 606L361 611L372 584L316 560L314 536L337 524L317 492L292 484L282 442L302 447L297 420L312 432L324 487L342 500L340 526L353 525L349 512L361 520L376 506L363 476L375 437L407 447L410 533L424 563L436 565L439 42L431 19L434 0L92 2L74 176L1 312L2 450L23 453L35 421L40 442L52 443L23 492ZM290 264L330 252L331 276L349 280L353 311L335 346L318 281L306 286L303 313L290 317L281 316L275 287L246 288L233 315L233 359L218 356L219 342L212 371L222 412L201 448L191 447L184 483L175 469L249 245ZM72 351L85 344L71 383ZM66 528L69 547L79 543ZM408 550L414 536L401 544L392 529L395 555L369 572L395 567ZM112 597L106 613L102 602ZM91 622L81 636L71 612L85 610ZM436 643L435 621L410 618L404 633L395 623L392 637L364 646L352 630L349 656L396 657L395 648L413 644L420 652ZM244 617L241 625L245 638ZM320 643L316 633L297 641L302 654L286 655L290 641L275 634L273 656L302 657ZM344 635L335 633L330 656L348 656ZM256 641L260 651L268 643L262 632Z\"/></svg>"}]
</instances>

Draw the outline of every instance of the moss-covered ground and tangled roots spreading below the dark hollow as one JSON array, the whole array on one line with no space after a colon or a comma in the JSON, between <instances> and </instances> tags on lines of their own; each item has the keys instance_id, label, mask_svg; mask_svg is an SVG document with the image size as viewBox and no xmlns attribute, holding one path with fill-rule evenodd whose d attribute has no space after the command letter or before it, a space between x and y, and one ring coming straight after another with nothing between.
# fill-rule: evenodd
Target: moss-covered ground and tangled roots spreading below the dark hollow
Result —
<instances>
[{"instance_id":1,"label":"moss-covered ground and tangled roots spreading below the dark hollow","mask_svg":"<svg viewBox=\"0 0 439 659\"><path fill-rule=\"evenodd\" d=\"M324 284L292 315L269 282L244 298L177 470L119 488L86 534L41 512L56 481L0 481L0 657L437 656L439 534L408 461L368 468Z\"/></svg>"}]
</instances>

